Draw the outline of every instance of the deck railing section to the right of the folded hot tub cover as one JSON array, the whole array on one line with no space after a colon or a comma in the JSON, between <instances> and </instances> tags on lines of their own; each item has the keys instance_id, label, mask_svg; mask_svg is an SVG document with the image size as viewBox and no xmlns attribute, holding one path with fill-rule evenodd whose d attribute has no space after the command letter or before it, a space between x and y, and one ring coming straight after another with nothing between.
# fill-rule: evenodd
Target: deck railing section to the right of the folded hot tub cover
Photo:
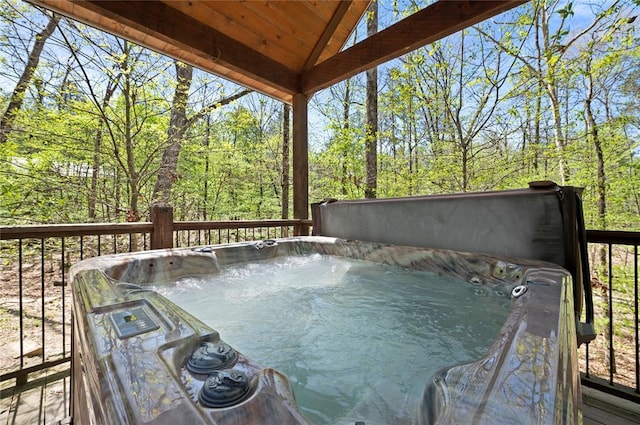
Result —
<instances>
[{"instance_id":1,"label":"deck railing section to the right of the folded hot tub cover","mask_svg":"<svg viewBox=\"0 0 640 425\"><path fill-rule=\"evenodd\" d=\"M598 337L580 349L582 383L640 403L640 232L587 230Z\"/></svg>"}]
</instances>

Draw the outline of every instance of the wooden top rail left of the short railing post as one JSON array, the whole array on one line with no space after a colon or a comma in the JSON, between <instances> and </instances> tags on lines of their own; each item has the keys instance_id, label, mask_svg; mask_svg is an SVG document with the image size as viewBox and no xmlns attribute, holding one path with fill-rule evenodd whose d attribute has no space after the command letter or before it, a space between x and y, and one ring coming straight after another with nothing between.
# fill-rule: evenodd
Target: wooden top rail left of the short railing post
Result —
<instances>
[{"instance_id":1,"label":"wooden top rail left of the short railing post","mask_svg":"<svg viewBox=\"0 0 640 425\"><path fill-rule=\"evenodd\" d=\"M0 226L0 240L146 233L152 230L151 222Z\"/></svg>"}]
</instances>

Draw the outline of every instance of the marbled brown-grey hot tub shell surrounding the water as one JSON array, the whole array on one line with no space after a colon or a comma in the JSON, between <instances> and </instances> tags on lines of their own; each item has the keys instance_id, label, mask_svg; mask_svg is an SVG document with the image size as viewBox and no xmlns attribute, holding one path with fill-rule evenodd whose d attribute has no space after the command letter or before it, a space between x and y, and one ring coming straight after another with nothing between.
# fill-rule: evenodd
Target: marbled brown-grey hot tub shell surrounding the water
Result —
<instances>
[{"instance_id":1,"label":"marbled brown-grey hot tub shell surrounding the water","mask_svg":"<svg viewBox=\"0 0 640 425\"><path fill-rule=\"evenodd\" d=\"M409 400L402 414L390 412L395 393L401 391L401 385L390 382L363 392L379 403L362 400L334 418L335 423L541 424L581 419L573 285L565 269L543 261L315 236L120 254L74 266L74 420L312 423L304 401L296 403L298 395L287 375L264 359L247 357L225 342L215 323L203 323L159 293L164 286L184 285L188 277L211 277L215 285L216 276L228 267L242 270L274 258L305 256L428 272L498 294L504 298L501 305L508 306L486 351L464 362L451 353L451 364L429 372L418 397L402 398ZM268 278L261 282L267 288L275 284ZM193 291L193 298L200 296ZM455 312L455 305L450 308ZM282 313L286 324L286 311ZM405 324L421 326L417 320ZM286 332L286 326L273 332ZM411 374L418 363L402 366ZM381 361L370 373L384 369ZM398 375L393 374L402 379Z\"/></svg>"}]
</instances>

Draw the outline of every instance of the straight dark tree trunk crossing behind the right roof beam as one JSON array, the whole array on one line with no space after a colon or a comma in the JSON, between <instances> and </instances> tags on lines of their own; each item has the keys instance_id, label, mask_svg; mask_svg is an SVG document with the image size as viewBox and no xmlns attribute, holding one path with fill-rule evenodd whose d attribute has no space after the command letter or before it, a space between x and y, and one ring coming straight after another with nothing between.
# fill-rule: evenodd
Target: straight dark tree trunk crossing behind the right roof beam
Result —
<instances>
[{"instance_id":1,"label":"straight dark tree trunk crossing behind the right roof beam","mask_svg":"<svg viewBox=\"0 0 640 425\"><path fill-rule=\"evenodd\" d=\"M367 36L378 32L378 2L369 5ZM375 198L378 188L378 68L367 70L367 122L365 124L365 198Z\"/></svg>"}]
</instances>

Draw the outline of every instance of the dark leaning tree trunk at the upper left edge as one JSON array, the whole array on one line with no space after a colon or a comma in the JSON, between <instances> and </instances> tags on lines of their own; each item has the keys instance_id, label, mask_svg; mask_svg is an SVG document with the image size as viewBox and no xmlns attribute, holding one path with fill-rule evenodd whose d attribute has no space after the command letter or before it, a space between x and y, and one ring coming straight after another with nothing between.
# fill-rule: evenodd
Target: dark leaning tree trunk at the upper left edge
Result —
<instances>
[{"instance_id":1,"label":"dark leaning tree trunk at the upper left edge","mask_svg":"<svg viewBox=\"0 0 640 425\"><path fill-rule=\"evenodd\" d=\"M33 44L33 49L31 49L31 52L29 53L27 64L25 65L24 71L22 72L22 75L18 80L18 84L13 89L13 93L11 93L11 98L9 99L7 110L0 119L0 143L6 142L7 136L9 135L9 133L11 133L13 123L16 119L16 116L18 115L18 111L20 110L20 108L22 108L24 94L29 87L29 83L33 78L33 73L38 67L38 63L40 62L40 55L42 54L44 43L51 36L51 34L53 34L53 31L55 31L58 22L60 22L60 15L54 13L49 17L47 26L36 35L36 41Z\"/></svg>"}]
</instances>

